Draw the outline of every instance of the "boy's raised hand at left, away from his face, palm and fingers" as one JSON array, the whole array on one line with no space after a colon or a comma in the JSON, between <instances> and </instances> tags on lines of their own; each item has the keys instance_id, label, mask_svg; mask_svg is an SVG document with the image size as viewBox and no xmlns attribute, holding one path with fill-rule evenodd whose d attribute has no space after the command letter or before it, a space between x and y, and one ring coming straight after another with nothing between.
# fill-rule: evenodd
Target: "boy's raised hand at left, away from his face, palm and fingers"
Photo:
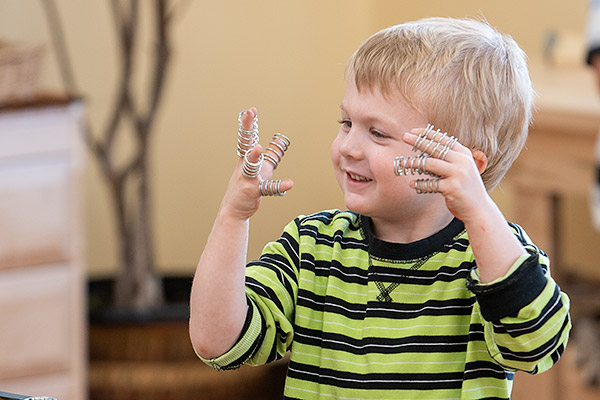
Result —
<instances>
[{"instance_id":1,"label":"boy's raised hand at left, away from his face, palm and fingers","mask_svg":"<svg viewBox=\"0 0 600 400\"><path fill-rule=\"evenodd\" d=\"M242 116L242 128L252 129L252 121L257 115L256 108L252 107L246 110ZM260 158L263 148L260 144L254 146L249 151L248 161L257 162ZM229 179L229 184L221 203L219 214L230 216L235 219L247 220L252 217L260 206L261 195L258 185L261 180L269 180L273 177L273 165L264 162L260 174L255 178L248 178L242 174L243 158L239 158L237 165ZM294 182L286 179L281 182L280 191L285 192L294 186Z\"/></svg>"}]
</instances>

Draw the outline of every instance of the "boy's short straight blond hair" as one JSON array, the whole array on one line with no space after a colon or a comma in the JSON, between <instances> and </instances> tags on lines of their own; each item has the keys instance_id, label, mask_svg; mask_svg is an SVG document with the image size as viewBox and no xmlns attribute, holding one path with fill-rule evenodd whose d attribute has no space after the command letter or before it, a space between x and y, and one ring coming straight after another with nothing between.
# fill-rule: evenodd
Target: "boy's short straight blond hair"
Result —
<instances>
[{"instance_id":1,"label":"boy's short straight blond hair","mask_svg":"<svg viewBox=\"0 0 600 400\"><path fill-rule=\"evenodd\" d=\"M399 92L436 128L481 150L487 190L525 145L535 96L526 56L485 22L426 18L383 29L352 55L347 74L359 90Z\"/></svg>"}]
</instances>

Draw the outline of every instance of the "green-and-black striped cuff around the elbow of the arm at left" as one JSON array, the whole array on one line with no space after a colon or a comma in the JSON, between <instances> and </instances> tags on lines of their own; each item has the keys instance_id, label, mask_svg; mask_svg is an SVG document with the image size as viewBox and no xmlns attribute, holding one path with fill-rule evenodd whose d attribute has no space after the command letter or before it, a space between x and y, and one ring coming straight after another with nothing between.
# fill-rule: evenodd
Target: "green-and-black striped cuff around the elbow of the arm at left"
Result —
<instances>
[{"instance_id":1,"label":"green-and-black striped cuff around the elbow of the arm at left","mask_svg":"<svg viewBox=\"0 0 600 400\"><path fill-rule=\"evenodd\" d=\"M214 358L204 358L198 353L196 355L205 364L210 365L217 371L237 369L244 364L256 351L262 335L262 318L252 303L248 305L246 321L238 341L225 354Z\"/></svg>"}]
</instances>

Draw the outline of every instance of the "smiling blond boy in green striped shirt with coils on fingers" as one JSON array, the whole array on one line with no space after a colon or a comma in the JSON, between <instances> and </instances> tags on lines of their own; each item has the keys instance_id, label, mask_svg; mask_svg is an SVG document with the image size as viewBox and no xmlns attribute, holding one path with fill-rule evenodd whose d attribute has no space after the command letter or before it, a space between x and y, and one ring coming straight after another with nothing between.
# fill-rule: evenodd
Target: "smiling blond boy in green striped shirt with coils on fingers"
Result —
<instances>
[{"instance_id":1,"label":"smiling blond boy in green striped shirt with coils on fingers","mask_svg":"<svg viewBox=\"0 0 600 400\"><path fill-rule=\"evenodd\" d=\"M272 173L240 172L251 150L198 264L194 348L216 369L291 350L287 399L508 399L514 371L550 368L570 329L546 254L488 195L526 139L525 56L485 23L431 18L373 35L347 74L331 157L348 211L296 218L244 269Z\"/></svg>"}]
</instances>

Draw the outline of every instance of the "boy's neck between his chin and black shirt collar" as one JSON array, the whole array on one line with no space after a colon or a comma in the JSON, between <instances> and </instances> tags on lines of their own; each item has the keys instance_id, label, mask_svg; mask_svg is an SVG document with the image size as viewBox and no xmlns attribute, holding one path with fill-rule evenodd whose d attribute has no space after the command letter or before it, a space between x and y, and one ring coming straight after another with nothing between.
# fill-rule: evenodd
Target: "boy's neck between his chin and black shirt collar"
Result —
<instances>
[{"instance_id":1,"label":"boy's neck between his chin and black shirt collar","mask_svg":"<svg viewBox=\"0 0 600 400\"><path fill-rule=\"evenodd\" d=\"M373 234L392 243L412 243L425 239L444 229L454 219L448 209L443 213L428 214L401 222L388 218L371 217Z\"/></svg>"}]
</instances>

